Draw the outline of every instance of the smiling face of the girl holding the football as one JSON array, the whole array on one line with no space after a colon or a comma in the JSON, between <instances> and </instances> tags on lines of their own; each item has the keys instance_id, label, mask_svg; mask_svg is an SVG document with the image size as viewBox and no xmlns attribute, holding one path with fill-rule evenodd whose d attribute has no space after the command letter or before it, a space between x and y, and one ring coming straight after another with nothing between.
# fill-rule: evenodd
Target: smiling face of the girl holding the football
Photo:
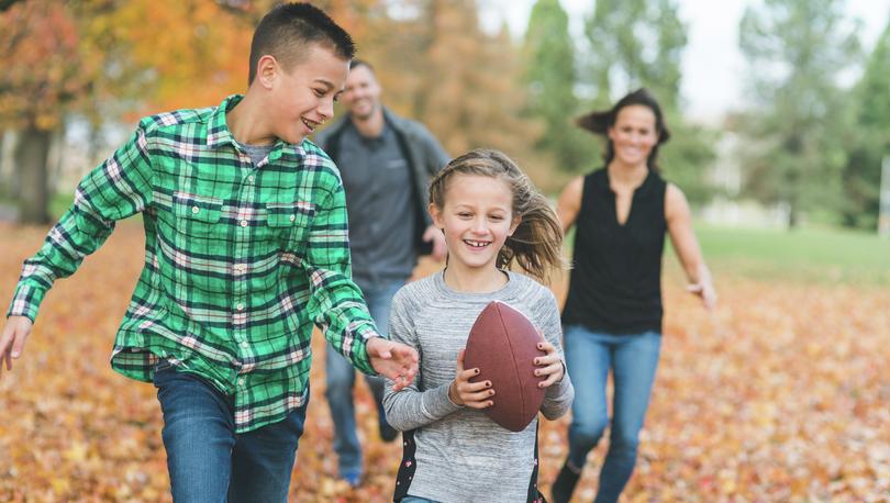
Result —
<instances>
[{"instance_id":1,"label":"smiling face of the girl holding the football","mask_svg":"<svg viewBox=\"0 0 890 503\"><path fill-rule=\"evenodd\" d=\"M520 220L513 215L513 192L499 179L456 174L447 180L445 204L430 205L434 224L445 234L448 267L487 272Z\"/></svg>"}]
</instances>

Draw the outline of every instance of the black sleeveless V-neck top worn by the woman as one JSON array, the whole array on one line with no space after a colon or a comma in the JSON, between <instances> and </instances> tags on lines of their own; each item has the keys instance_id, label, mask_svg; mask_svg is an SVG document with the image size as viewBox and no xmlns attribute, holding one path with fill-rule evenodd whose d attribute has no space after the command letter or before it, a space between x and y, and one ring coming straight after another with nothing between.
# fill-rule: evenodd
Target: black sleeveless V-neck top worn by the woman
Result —
<instances>
[{"instance_id":1,"label":"black sleeveless V-neck top worn by the woman","mask_svg":"<svg viewBox=\"0 0 890 503\"><path fill-rule=\"evenodd\" d=\"M667 183L649 170L619 225L605 168L585 177L564 324L608 334L661 333Z\"/></svg>"}]
</instances>

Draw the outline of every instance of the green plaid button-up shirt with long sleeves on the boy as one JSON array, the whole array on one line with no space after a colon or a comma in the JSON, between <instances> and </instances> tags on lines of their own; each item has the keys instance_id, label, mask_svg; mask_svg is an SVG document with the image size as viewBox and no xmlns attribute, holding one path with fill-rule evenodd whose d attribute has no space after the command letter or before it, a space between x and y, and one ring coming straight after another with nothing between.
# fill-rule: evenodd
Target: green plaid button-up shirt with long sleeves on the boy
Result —
<instances>
[{"instance_id":1,"label":"green plaid button-up shirt with long sleeves on the boy","mask_svg":"<svg viewBox=\"0 0 890 503\"><path fill-rule=\"evenodd\" d=\"M304 404L313 324L370 375L365 343L378 334L351 280L334 163L309 141L279 141L254 166L225 123L238 101L143 119L24 262L9 314L33 321L56 278L142 213L145 266L111 365L151 381L167 359L231 395L248 432Z\"/></svg>"}]
</instances>

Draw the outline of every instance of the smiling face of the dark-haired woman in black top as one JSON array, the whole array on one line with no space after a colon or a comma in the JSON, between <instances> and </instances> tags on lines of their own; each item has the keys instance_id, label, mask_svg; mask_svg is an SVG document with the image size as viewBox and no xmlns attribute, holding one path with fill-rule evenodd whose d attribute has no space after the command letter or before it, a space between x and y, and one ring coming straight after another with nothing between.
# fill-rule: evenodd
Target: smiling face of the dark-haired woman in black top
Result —
<instances>
[{"instance_id":1,"label":"smiling face of the dark-haired woman in black top","mask_svg":"<svg viewBox=\"0 0 890 503\"><path fill-rule=\"evenodd\" d=\"M619 110L615 125L609 127L615 157L627 166L645 165L653 147L658 143L655 128L655 112L642 104L632 104Z\"/></svg>"}]
</instances>

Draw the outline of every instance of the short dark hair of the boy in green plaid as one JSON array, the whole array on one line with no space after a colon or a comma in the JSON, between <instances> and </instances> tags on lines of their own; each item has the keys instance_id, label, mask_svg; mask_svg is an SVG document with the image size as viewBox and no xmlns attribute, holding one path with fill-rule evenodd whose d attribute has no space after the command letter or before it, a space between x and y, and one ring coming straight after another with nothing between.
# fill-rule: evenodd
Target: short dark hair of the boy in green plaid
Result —
<instances>
[{"instance_id":1,"label":"short dark hair of the boy in green plaid","mask_svg":"<svg viewBox=\"0 0 890 503\"><path fill-rule=\"evenodd\" d=\"M319 8L302 2L274 8L254 31L247 85L254 82L263 56L270 55L285 68L292 68L307 57L311 44L322 44L343 59L355 56L353 38Z\"/></svg>"}]
</instances>

